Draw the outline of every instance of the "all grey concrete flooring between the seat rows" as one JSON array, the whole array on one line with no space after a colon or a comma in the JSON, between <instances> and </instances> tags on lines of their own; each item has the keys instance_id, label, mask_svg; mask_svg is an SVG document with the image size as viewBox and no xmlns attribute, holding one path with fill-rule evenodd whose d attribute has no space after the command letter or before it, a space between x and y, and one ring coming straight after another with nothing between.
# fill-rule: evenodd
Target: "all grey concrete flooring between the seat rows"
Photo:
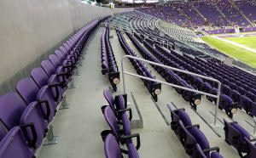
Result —
<instances>
[{"instance_id":1,"label":"all grey concrete flooring between the seat rows","mask_svg":"<svg viewBox=\"0 0 256 158\"><path fill-rule=\"evenodd\" d=\"M76 88L67 92L67 102L71 104L68 110L59 110L55 116L54 132L60 136L58 144L44 146L39 154L39 158L82 158L82 157L104 157L103 142L100 133L104 129L108 129L108 125L102 116L100 107L107 104L103 98L102 91L109 86L108 77L101 74L101 42L102 27L91 37L84 51L86 51L85 59L82 67L79 68L80 76L75 76ZM113 52L121 71L120 59L125 55L123 49L119 45L119 40L114 30L110 31L110 42ZM128 37L125 35L125 39ZM140 54L130 40L127 40L131 48L138 56ZM136 73L129 60L125 60L125 70ZM147 64L146 64L147 65ZM154 76L164 81L164 79L154 69L148 65L148 69L152 71ZM162 85L162 93L159 101L154 103L143 82L132 76L125 76L127 92L132 92L137 101L138 108L143 116L143 129L133 129L132 133L140 133L141 148L138 151L140 157L147 158L166 158L189 157L185 154L182 144L178 141L177 136L172 132L166 121L171 121L169 110L166 104L173 103L177 108L185 108L194 124L200 124L201 130L206 134L211 147L218 146L220 153L224 157L239 157L236 151L224 142L223 125L218 121L220 127L216 128L216 133L207 126L206 122L201 119L204 117L207 121L213 121L210 111L214 111L214 105L202 100L201 106L198 107L197 115L191 110L189 103L173 90L172 87ZM123 93L122 82L118 86L117 93ZM158 108L159 110L158 110ZM162 115L160 114L162 113ZM166 120L163 118L166 117ZM223 111L219 110L219 119L228 119ZM238 119L240 118L240 119ZM242 119L241 119L242 118ZM228 119L230 121L230 119ZM252 127L247 126L245 120L253 123L253 119L239 111L234 117L247 130Z\"/></svg>"}]
</instances>

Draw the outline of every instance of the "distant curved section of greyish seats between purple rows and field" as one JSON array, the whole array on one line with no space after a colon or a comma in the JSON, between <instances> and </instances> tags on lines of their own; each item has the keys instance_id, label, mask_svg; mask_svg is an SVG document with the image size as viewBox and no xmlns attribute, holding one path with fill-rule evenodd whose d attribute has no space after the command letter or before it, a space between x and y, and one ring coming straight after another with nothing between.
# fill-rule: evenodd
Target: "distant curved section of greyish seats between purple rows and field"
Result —
<instances>
[{"instance_id":1,"label":"distant curved section of greyish seats between purple rows and field","mask_svg":"<svg viewBox=\"0 0 256 158\"><path fill-rule=\"evenodd\" d=\"M184 54L191 54L201 58L211 58L211 56L214 56L218 59L226 59L228 57L218 52L218 50L209 47L193 31L177 25L161 25L157 19L149 15L139 12L133 13L135 17L131 19L133 21L131 25L143 38L151 38L155 42L168 43L172 45L172 49L175 48L174 45L177 45ZM125 17L125 14L120 14L120 16Z\"/></svg>"}]
</instances>

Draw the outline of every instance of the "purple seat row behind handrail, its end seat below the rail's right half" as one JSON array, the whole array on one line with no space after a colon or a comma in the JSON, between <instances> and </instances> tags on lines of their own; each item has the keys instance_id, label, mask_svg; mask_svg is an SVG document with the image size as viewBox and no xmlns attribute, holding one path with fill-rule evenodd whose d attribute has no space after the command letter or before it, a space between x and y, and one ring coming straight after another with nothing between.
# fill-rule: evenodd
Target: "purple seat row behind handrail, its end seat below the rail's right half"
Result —
<instances>
[{"instance_id":1,"label":"purple seat row behind handrail, its end seat below the rail's right half","mask_svg":"<svg viewBox=\"0 0 256 158\"><path fill-rule=\"evenodd\" d=\"M130 37L131 42L134 43L134 45L137 47L137 49L139 50L140 54L142 54L144 59L148 59L150 61L154 61L156 63L163 64L160 61L160 58L159 58L160 56L155 55L155 54L159 54L159 52L157 50L155 50L153 47L151 47L148 42L143 41L143 43L145 44L145 47L148 48L148 50L150 50L153 55L149 54L148 51L146 51L143 48L143 46L139 42L137 42L137 40L134 37L131 36L131 34L129 34L128 37ZM165 63L165 64L167 64L167 63ZM167 82L171 82L174 84L178 84L179 86L189 87L189 88L194 89L194 87L191 87L185 80L183 80L183 77L180 77L183 74L177 75L178 73L175 73L172 70L168 70L168 69L156 66L156 65L152 65L152 66L154 67L154 69L156 71L158 71L160 73L161 76L163 76L166 79ZM176 90L177 90L177 93L180 93L183 96L183 99L185 99L186 101L189 101L189 104L192 107L194 107L195 109L196 109L196 105L200 104L200 102L201 102L200 94L192 93L189 91L184 91L184 90L181 90L178 88L176 88Z\"/></svg>"}]
</instances>

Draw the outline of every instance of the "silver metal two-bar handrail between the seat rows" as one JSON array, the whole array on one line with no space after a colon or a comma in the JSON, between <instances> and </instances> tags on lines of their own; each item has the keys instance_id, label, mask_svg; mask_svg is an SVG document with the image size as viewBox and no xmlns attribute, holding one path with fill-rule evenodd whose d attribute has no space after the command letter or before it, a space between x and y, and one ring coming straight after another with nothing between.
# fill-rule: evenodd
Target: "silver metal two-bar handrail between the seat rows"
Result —
<instances>
[{"instance_id":1,"label":"silver metal two-bar handrail between the seat rows","mask_svg":"<svg viewBox=\"0 0 256 158\"><path fill-rule=\"evenodd\" d=\"M176 85L176 84L172 84L172 83L169 83L169 82L162 82L160 80L156 80L156 79L152 79L152 78L149 78L149 77L146 77L146 76L140 76L140 75L137 75L137 74L134 74L134 73L131 73L131 72L124 71L124 59L137 59L137 60L143 61L145 63L149 63L151 65L158 65L160 67L163 67L163 68L166 68L166 69L170 69L172 71L178 71L178 72L182 72L184 74L188 74L188 75L191 75L191 76L198 76L198 77L207 79L207 80L212 81L212 82L218 82L218 94L217 95L213 95L211 93L205 93L205 92L198 91L198 90L195 90L195 89L192 89L192 88L189 88L189 87L182 87L182 86L179 86L179 85ZM195 74L193 72L183 71L183 70L174 68L172 66L167 66L167 65L162 65L162 64L159 64L159 63L155 63L155 62L149 61L147 59L137 58L137 57L134 57L134 56L131 56L131 55L123 56L123 58L121 59L121 67L122 67L122 79L123 79L124 93L126 93L125 75L129 75L129 76L136 76L138 78L142 78L144 80L148 80L148 81L151 81L151 82L160 82L160 83L166 84L168 86L177 87L177 88L180 88L180 89L183 89L183 90L186 90L186 91L190 91L190 92L194 92L194 93L201 93L203 95L207 95L209 97L216 98L217 99L217 101L216 101L217 105L215 107L215 115L214 115L214 121L213 121L212 127L217 127L218 126L217 125L217 116L218 116L218 104L219 104L220 87L221 87L221 82L219 82L218 80L216 80L214 78L211 78L211 77L208 77L208 76L202 76L202 75L199 75L199 74Z\"/></svg>"}]
</instances>

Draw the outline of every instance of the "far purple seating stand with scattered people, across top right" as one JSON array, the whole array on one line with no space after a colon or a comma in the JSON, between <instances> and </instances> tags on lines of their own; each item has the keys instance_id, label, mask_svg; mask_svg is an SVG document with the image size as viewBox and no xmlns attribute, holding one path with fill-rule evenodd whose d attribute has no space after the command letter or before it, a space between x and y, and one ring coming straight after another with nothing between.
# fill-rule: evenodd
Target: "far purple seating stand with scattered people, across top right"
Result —
<instances>
[{"instance_id":1,"label":"far purple seating stand with scattered people, across top right","mask_svg":"<svg viewBox=\"0 0 256 158\"><path fill-rule=\"evenodd\" d=\"M167 22L196 29L201 26L223 27L255 24L254 1L188 1L170 2L148 8L137 8Z\"/></svg>"}]
</instances>

